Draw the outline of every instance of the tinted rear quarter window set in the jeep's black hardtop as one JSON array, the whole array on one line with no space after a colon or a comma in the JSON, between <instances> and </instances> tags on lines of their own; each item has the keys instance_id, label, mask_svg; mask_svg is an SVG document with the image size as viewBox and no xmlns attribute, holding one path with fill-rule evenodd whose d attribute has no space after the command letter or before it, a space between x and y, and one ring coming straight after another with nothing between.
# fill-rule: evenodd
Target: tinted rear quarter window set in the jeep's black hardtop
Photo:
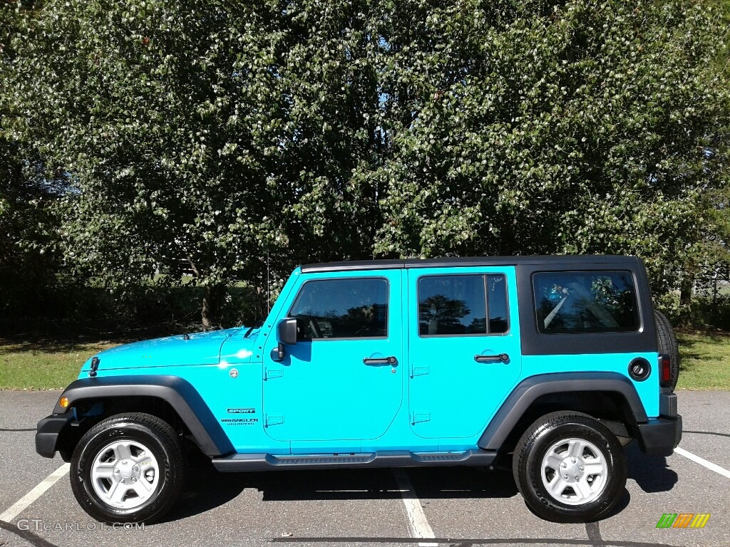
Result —
<instances>
[{"instance_id":1,"label":"tinted rear quarter window set in the jeep's black hardtop","mask_svg":"<svg viewBox=\"0 0 730 547\"><path fill-rule=\"evenodd\" d=\"M534 274L541 333L621 333L639 329L634 279L627 271Z\"/></svg>"}]
</instances>

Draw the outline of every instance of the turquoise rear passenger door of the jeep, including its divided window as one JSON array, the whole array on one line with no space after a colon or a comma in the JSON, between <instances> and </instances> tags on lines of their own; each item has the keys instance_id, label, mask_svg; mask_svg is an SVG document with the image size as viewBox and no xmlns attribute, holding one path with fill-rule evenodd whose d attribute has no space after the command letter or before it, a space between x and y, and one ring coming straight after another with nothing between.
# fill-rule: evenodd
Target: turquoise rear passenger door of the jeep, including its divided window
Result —
<instances>
[{"instance_id":1,"label":"turquoise rear passenger door of the jeep, including its divided window","mask_svg":"<svg viewBox=\"0 0 730 547\"><path fill-rule=\"evenodd\" d=\"M520 376L515 268L408 273L412 430L480 435Z\"/></svg>"}]
</instances>

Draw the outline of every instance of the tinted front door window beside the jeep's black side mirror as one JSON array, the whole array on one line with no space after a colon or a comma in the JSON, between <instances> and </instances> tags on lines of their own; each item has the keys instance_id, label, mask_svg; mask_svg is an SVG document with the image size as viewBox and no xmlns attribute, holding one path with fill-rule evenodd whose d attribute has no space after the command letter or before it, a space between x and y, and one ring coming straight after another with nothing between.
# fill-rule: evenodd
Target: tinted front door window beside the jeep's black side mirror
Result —
<instances>
[{"instance_id":1,"label":"tinted front door window beside the jeep's black side mirror","mask_svg":"<svg viewBox=\"0 0 730 547\"><path fill-rule=\"evenodd\" d=\"M385 279L321 279L302 285L289 311L299 338L382 338L388 335Z\"/></svg>"}]
</instances>

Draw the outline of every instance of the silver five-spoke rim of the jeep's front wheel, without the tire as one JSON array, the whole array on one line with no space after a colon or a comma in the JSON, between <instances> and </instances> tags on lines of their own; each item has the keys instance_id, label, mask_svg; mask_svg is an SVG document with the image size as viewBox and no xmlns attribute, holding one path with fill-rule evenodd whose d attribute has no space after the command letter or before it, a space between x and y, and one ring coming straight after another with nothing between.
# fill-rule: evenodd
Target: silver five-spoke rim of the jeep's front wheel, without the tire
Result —
<instances>
[{"instance_id":1,"label":"silver five-spoke rim of the jeep's front wheel, without the tire","mask_svg":"<svg viewBox=\"0 0 730 547\"><path fill-rule=\"evenodd\" d=\"M91 484L104 503L134 509L155 494L160 467L147 446L138 441L115 441L96 454Z\"/></svg>"}]
</instances>

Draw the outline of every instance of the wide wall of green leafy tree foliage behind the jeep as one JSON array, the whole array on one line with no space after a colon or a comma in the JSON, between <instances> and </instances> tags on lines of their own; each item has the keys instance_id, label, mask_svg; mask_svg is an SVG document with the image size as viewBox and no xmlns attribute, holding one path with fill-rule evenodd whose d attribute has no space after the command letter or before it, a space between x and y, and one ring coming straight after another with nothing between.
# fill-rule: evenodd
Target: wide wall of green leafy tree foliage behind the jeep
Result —
<instances>
[{"instance_id":1,"label":"wide wall of green leafy tree foliage behind the jeep","mask_svg":"<svg viewBox=\"0 0 730 547\"><path fill-rule=\"evenodd\" d=\"M724 247L712 3L49 0L13 17L5 142L67 181L66 268L126 287L185 263L207 322L230 279L296 263L631 253L666 290Z\"/></svg>"}]
</instances>

